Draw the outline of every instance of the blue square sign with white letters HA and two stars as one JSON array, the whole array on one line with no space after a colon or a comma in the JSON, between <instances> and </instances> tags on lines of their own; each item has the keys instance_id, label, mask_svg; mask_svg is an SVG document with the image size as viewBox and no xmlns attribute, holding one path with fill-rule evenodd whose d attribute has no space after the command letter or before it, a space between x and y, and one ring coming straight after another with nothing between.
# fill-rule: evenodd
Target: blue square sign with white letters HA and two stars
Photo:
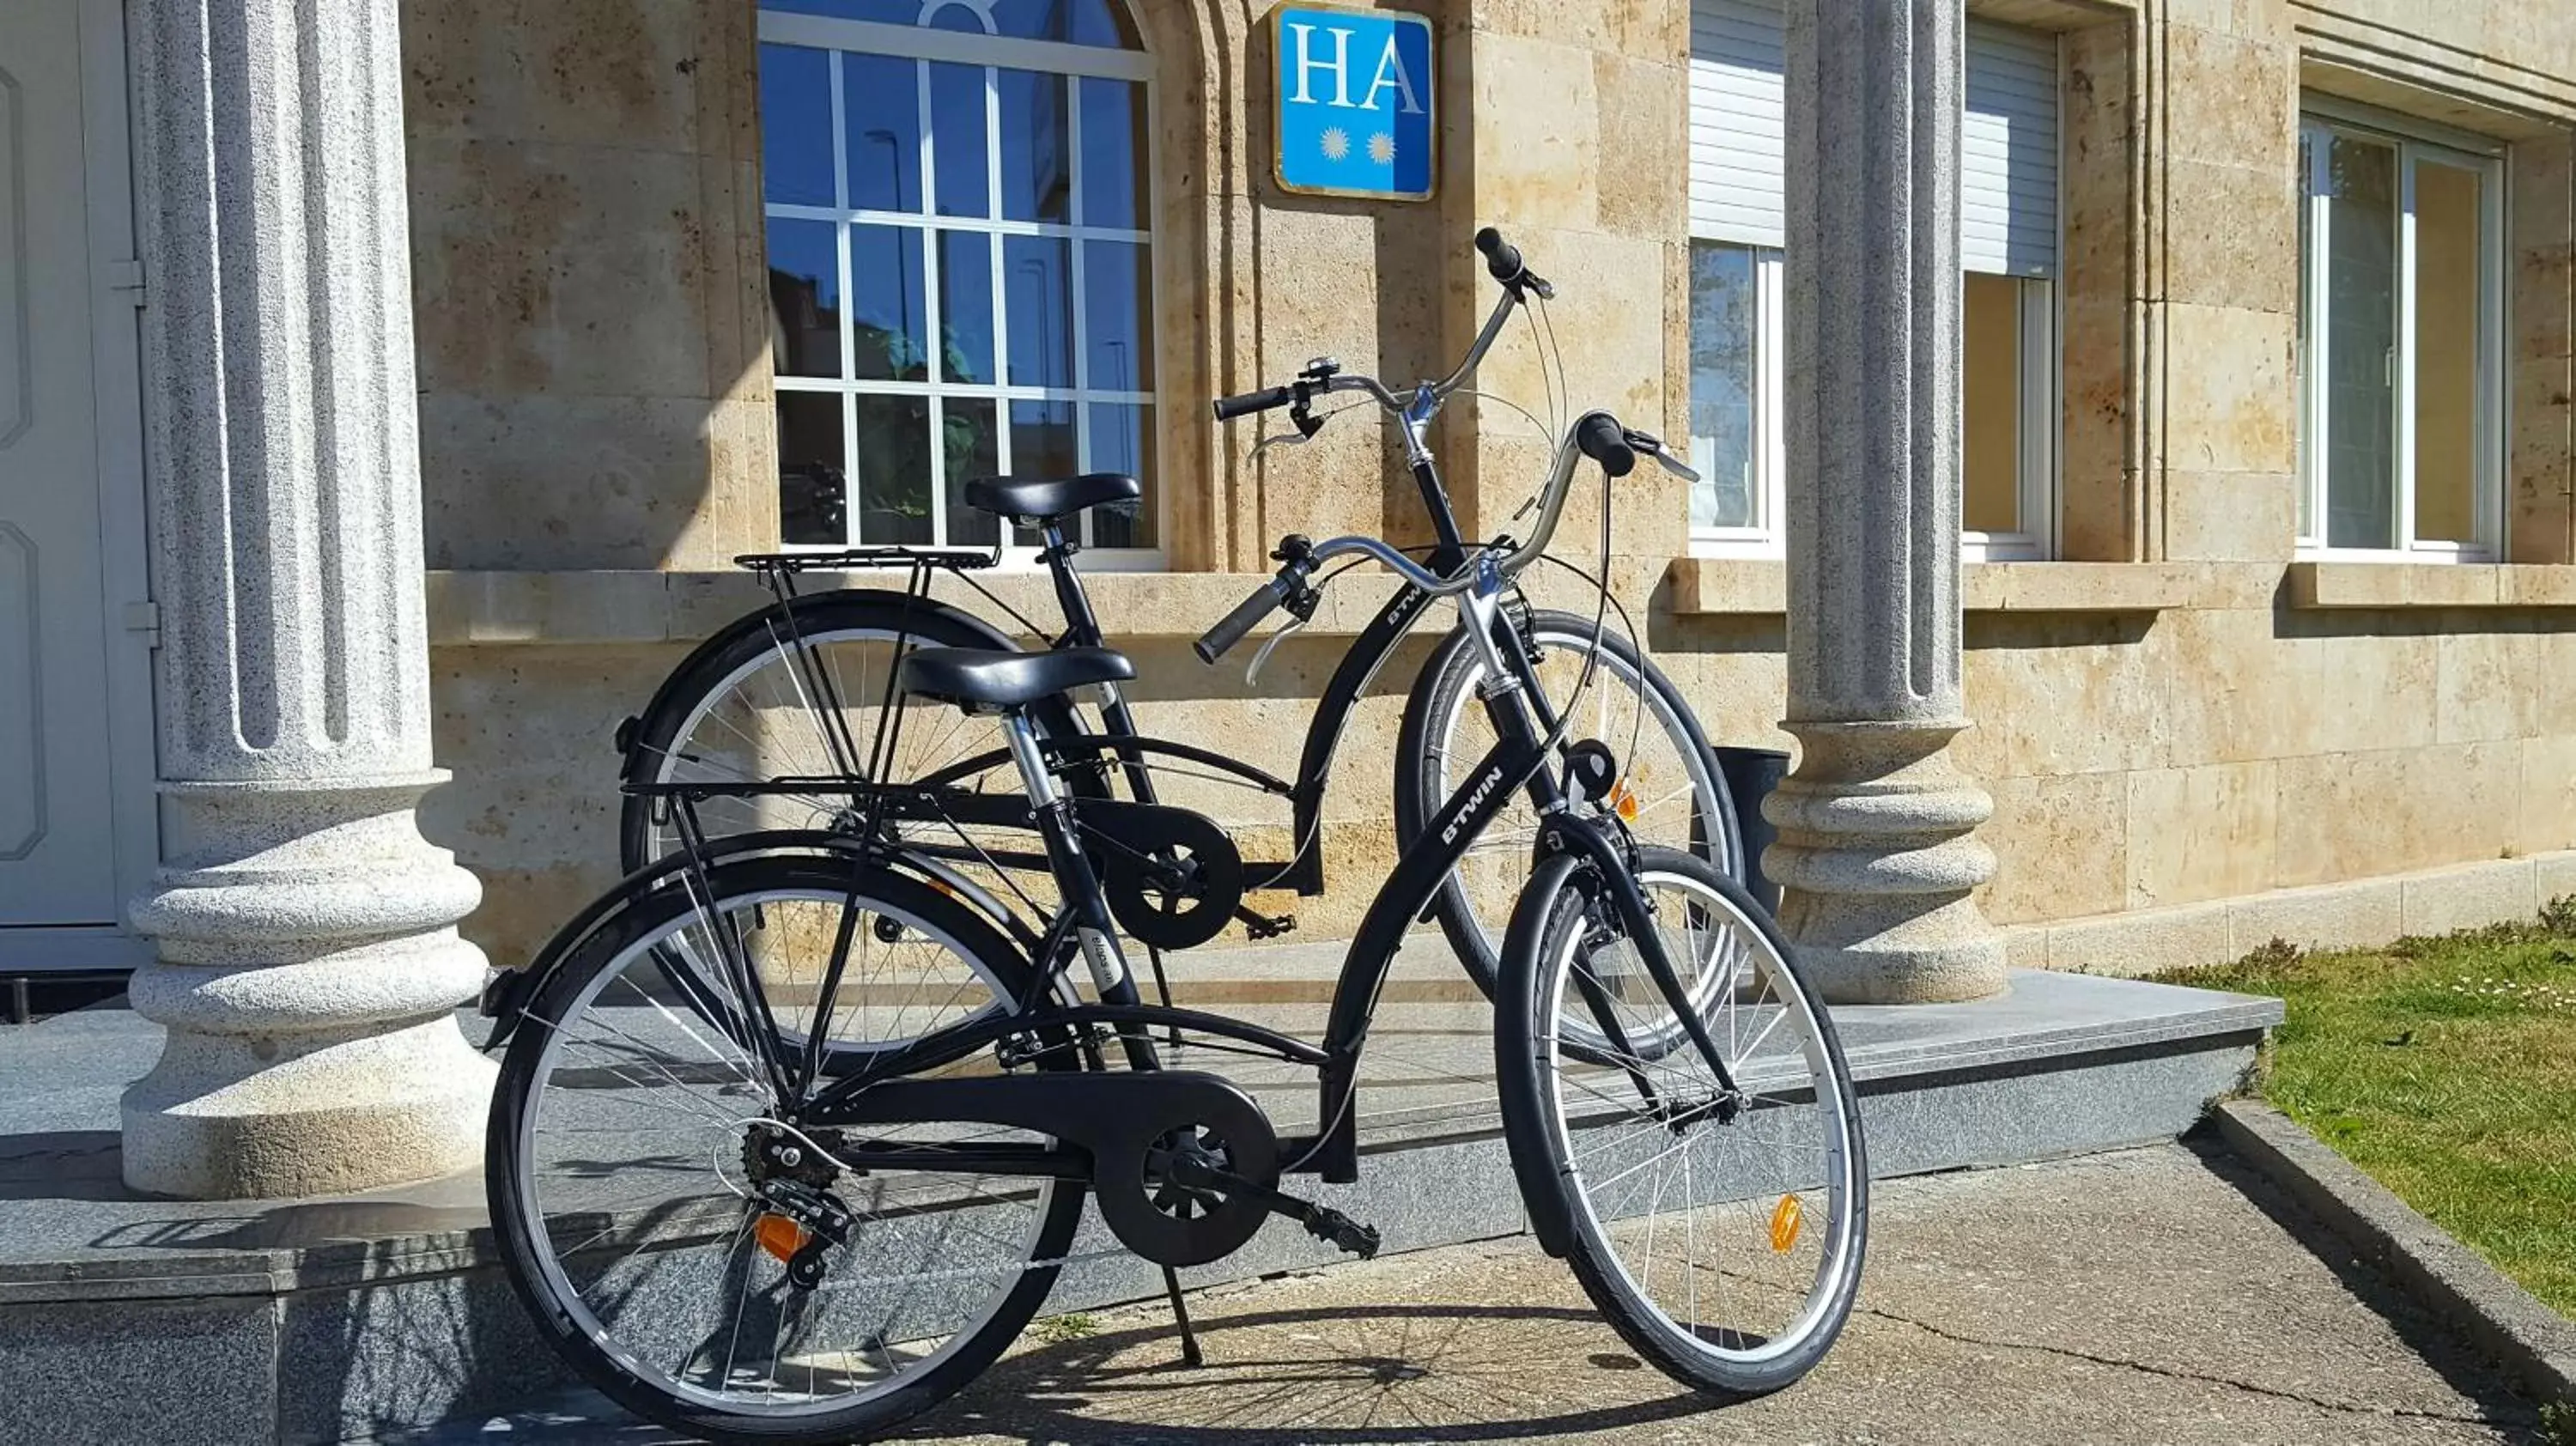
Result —
<instances>
[{"instance_id":1,"label":"blue square sign with white letters HA and two stars","mask_svg":"<svg viewBox=\"0 0 2576 1446\"><path fill-rule=\"evenodd\" d=\"M1437 175L1432 23L1399 10L1270 10L1278 183L1303 196L1427 201Z\"/></svg>"}]
</instances>

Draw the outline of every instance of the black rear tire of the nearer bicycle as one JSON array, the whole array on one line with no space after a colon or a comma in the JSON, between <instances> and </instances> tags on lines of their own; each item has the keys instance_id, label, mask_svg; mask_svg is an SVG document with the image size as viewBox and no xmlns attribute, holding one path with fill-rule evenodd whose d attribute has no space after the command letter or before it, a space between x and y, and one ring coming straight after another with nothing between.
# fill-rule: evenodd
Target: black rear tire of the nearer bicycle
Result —
<instances>
[{"instance_id":1,"label":"black rear tire of the nearer bicycle","mask_svg":"<svg viewBox=\"0 0 2576 1446\"><path fill-rule=\"evenodd\" d=\"M904 915L935 928L953 949L969 951L981 969L989 969L989 977L997 979L999 987L1020 990L1018 998L1025 998L1025 982L1030 974L1028 961L976 912L902 874L855 869L842 858L768 856L724 863L711 871L708 884L708 900L716 910L721 910L726 900L752 900L799 889L855 894L866 902L902 910ZM721 1410L708 1402L685 1400L657 1387L654 1382L647 1382L636 1369L618 1358L616 1343L600 1340L600 1335L605 1335L605 1325L598 1330L582 1325L582 1317L592 1315L590 1307L577 1299L559 1299L554 1276L546 1271L551 1248L541 1248L536 1240L536 1232L544 1229L538 1217L544 1206L538 1204L531 1209L531 1201L538 1199L538 1188L531 1181L528 1139L536 1124L536 1098L531 1090L541 1083L541 1067L549 1059L549 1036L572 1026L572 1018L567 1018L564 1010L580 1000L582 990L592 987L598 972L611 969L623 959L634 959L639 949L647 954L659 949L647 941L657 938L675 915L690 910L693 902L688 889L654 889L636 897L629 907L616 910L600 930L580 938L574 943L574 954L559 967L549 959L538 961L538 967L551 967L551 974L528 1005L528 1026L518 1031L502 1059L484 1147L487 1204L510 1286L528 1309L538 1335L556 1351L559 1358L564 1358L603 1394L647 1420L724 1443L819 1446L827 1441L878 1438L886 1431L899 1428L904 1420L940 1405L989 1369L992 1361L1002 1356L1020 1330L1025 1330L1028 1320L1033 1320L1043 1307L1061 1266L1030 1266L1018 1271L1018 1278L994 1297L997 1304L989 1315L974 1325L971 1338L966 1338L958 1348L940 1353L935 1361L922 1366L917 1376L902 1379L891 1384L891 1389L850 1402L842 1410L809 1412L801 1418L760 1418ZM1077 1052L1041 1052L1038 1067L1074 1070L1079 1067ZM1041 1224L1028 1245L1030 1260L1054 1260L1066 1255L1082 1219L1084 1188L1079 1183L1056 1181L1048 1188L1051 1196L1043 1206L1038 1206ZM595 1317L592 1322L598 1325ZM732 1366L732 1358L726 1364Z\"/></svg>"}]
</instances>

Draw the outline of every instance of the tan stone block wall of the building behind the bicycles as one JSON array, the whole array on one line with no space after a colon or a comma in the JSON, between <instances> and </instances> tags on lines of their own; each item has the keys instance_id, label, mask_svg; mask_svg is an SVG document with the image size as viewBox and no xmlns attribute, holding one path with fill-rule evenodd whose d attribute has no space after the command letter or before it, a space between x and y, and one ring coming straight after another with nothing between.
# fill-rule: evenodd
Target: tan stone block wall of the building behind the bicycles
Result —
<instances>
[{"instance_id":1,"label":"tan stone block wall of the building behind the bicycles","mask_svg":"<svg viewBox=\"0 0 2576 1446\"><path fill-rule=\"evenodd\" d=\"M1280 771L1347 629L1283 650L1260 688L1200 668L1185 637L1267 572L1285 531L1427 526L1365 412L1252 461L1255 423L1213 425L1206 397L1324 353L1388 379L1445 374L1494 296L1468 237L1497 224L1561 289L1548 325L1574 405L1687 430L1687 0L1406 8L1443 46L1440 193L1419 206L1270 183L1265 0L1136 5L1157 54L1167 562L1221 577L1105 580L1100 601L1133 634L1157 729ZM1996 799L1989 918L2182 910L2197 923L2156 949L2215 956L2239 941L2190 910L2576 845L2576 583L2561 572L2576 564L2576 13L1971 8L2061 28L2066 147L2069 562L1968 570L1976 729L1958 758ZM459 781L425 820L484 876L471 930L505 961L613 874L608 735L721 611L636 619L623 585L585 577L698 575L773 541L750 36L747 0L407 5L430 559L459 572L433 588L438 747ZM2514 147L2514 567L2293 559L2303 88ZM1546 415L1540 356L1515 322L1481 381ZM1458 402L1435 443L1471 534L1510 528L1543 479L1546 441L1502 405ZM1615 503L1620 595L1710 737L1788 747L1777 564L1674 564L1682 487L1651 469ZM1561 554L1589 557L1595 508L1587 479ZM562 598L585 588L605 601L567 619ZM1347 933L1394 858L1386 778L1422 652L1381 678L1345 742L1327 804L1337 889L1298 910L1303 938ZM1229 822L1267 851L1252 815ZM2326 907L2295 900L2282 918ZM2069 928L2056 961L2123 967L2079 954L2133 938Z\"/></svg>"}]
</instances>

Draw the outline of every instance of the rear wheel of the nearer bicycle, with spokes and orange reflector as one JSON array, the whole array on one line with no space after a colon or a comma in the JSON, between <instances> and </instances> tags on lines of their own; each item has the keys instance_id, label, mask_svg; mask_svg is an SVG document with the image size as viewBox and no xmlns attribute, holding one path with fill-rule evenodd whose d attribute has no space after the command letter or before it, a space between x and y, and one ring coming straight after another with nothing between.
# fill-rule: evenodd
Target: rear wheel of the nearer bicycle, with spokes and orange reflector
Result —
<instances>
[{"instance_id":1,"label":"rear wheel of the nearer bicycle, with spokes and orange reflector","mask_svg":"<svg viewBox=\"0 0 2576 1446\"><path fill-rule=\"evenodd\" d=\"M711 964L719 930L739 933L747 987ZM848 961L824 1010L835 941ZM683 959L701 987L734 979L721 1008L688 1005ZM492 1227L538 1330L629 1410L714 1441L868 1438L961 1389L1043 1304L1082 1188L850 1170L835 1150L855 1142L793 1126L747 1021L863 1054L1012 1008L1025 985L981 918L848 861L724 863L703 910L685 889L636 900L554 967L492 1101ZM948 1072L1007 1067L981 1052ZM876 1142L1046 1144L961 1124L871 1126ZM824 1196L848 1211L827 1248L783 1211ZM819 1284L791 1276L804 1245Z\"/></svg>"}]
</instances>

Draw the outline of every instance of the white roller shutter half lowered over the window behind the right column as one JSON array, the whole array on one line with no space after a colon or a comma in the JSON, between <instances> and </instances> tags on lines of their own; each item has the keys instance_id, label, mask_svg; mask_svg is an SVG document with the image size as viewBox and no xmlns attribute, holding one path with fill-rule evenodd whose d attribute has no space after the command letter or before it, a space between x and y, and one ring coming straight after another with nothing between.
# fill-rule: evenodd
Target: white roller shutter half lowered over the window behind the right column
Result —
<instances>
[{"instance_id":1,"label":"white roller shutter half lowered over the window behind the right column","mask_svg":"<svg viewBox=\"0 0 2576 1446\"><path fill-rule=\"evenodd\" d=\"M1690 5L1690 235L1780 245L1780 0ZM1960 253L1968 271L2050 276L2058 263L2058 46L1968 23L1960 126Z\"/></svg>"}]
</instances>

